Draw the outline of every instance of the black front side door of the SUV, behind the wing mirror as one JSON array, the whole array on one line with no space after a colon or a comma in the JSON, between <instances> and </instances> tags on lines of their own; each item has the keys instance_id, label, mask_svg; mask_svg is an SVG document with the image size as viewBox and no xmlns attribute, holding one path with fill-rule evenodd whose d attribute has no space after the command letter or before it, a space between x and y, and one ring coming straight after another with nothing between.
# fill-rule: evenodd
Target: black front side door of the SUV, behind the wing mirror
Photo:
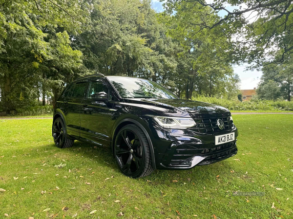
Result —
<instances>
[{"instance_id":1,"label":"black front side door of the SUV, behind the wing mirror","mask_svg":"<svg viewBox=\"0 0 293 219\"><path fill-rule=\"evenodd\" d=\"M110 91L102 79L92 79L89 82L89 89L86 98L82 101L81 107L81 137L98 145L110 146L111 123L113 104L102 101L94 101L95 94L105 92L108 100L111 100Z\"/></svg>"}]
</instances>

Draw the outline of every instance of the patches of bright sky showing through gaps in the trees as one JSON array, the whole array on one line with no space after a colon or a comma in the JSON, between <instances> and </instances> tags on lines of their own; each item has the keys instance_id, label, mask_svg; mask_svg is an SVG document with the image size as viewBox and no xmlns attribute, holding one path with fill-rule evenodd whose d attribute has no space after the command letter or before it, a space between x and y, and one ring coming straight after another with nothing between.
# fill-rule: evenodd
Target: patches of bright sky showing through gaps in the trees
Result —
<instances>
[{"instance_id":1,"label":"patches of bright sky showing through gaps in the trees","mask_svg":"<svg viewBox=\"0 0 293 219\"><path fill-rule=\"evenodd\" d=\"M152 7L157 12L164 11L164 8L162 6L163 2L160 2L159 0L152 0ZM234 8L231 6L227 7L228 10L233 10ZM225 12L219 12L220 16L224 16ZM250 90L253 88L257 88L257 84L260 81L260 77L262 75L262 72L260 71L251 71L246 70L246 67L248 67L247 63L244 63L242 65L234 65L234 73L237 73L241 79L240 89L241 90Z\"/></svg>"}]
</instances>

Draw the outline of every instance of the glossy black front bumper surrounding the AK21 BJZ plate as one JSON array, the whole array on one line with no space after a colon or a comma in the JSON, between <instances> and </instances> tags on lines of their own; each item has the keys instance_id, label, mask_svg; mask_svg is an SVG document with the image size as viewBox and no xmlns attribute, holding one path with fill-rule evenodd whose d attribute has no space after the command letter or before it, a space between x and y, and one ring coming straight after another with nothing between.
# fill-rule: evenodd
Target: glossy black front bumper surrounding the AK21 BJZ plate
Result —
<instances>
[{"instance_id":1,"label":"glossy black front bumper surrounding the AK21 BJZ plate","mask_svg":"<svg viewBox=\"0 0 293 219\"><path fill-rule=\"evenodd\" d=\"M190 169L196 165L212 164L237 154L238 130L199 133L192 129L162 128L146 120L151 130L156 169ZM216 135L235 133L235 141L215 145Z\"/></svg>"}]
</instances>

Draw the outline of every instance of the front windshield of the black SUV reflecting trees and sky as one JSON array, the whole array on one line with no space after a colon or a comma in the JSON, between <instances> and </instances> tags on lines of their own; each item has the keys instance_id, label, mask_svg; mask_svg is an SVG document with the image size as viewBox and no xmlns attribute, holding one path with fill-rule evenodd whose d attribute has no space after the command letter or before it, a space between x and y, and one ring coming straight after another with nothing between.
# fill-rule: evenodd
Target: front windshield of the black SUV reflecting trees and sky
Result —
<instances>
[{"instance_id":1,"label":"front windshield of the black SUV reflecting trees and sky","mask_svg":"<svg viewBox=\"0 0 293 219\"><path fill-rule=\"evenodd\" d=\"M108 77L108 79L123 98L178 98L156 82L146 79L132 77Z\"/></svg>"}]
</instances>

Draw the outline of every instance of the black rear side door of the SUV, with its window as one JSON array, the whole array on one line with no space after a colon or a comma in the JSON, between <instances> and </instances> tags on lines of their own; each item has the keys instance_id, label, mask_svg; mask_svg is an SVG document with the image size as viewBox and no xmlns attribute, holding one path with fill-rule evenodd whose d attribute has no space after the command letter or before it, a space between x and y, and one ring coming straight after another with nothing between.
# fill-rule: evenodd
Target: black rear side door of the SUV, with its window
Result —
<instances>
[{"instance_id":1,"label":"black rear side door of the SUV, with its window","mask_svg":"<svg viewBox=\"0 0 293 219\"><path fill-rule=\"evenodd\" d=\"M75 82L68 92L67 97L64 98L67 134L74 137L80 137L80 110L87 88L87 82L87 79Z\"/></svg>"}]
</instances>

